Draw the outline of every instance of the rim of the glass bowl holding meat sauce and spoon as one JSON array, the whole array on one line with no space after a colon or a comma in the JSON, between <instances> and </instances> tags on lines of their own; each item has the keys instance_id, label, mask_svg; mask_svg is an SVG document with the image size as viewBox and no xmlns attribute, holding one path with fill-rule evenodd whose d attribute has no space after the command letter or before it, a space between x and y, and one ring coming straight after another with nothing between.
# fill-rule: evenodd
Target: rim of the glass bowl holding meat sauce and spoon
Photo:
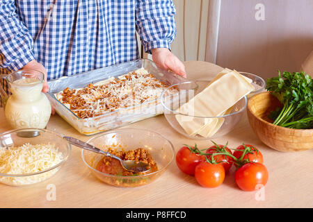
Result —
<instances>
[{"instance_id":1,"label":"rim of the glass bowl holding meat sauce and spoon","mask_svg":"<svg viewBox=\"0 0 313 222\"><path fill-rule=\"evenodd\" d=\"M130 178L144 178L144 177L147 177L147 176L152 176L154 174L158 174L160 173L161 171L165 170L171 163L172 161L174 160L175 158L175 148L172 144L172 142L170 142L169 139L167 139L166 137L164 137L163 135L161 135L160 133L157 133L155 132L154 130L147 130L147 129L143 129L143 128L122 128L122 129L115 129L115 130L111 130L111 131L108 131L108 132L104 132L104 133L100 133L100 134L97 134L93 137L91 137L90 139L88 139L88 141L86 143L90 144L90 140L92 139L95 139L97 137L101 137L103 135L108 135L108 134L111 134L111 133L118 133L118 132L121 132L121 131L127 131L127 130L139 130L141 132L150 132L150 133L154 133L156 135L158 135L159 137L162 137L163 139L165 139L168 144L170 144L170 150L172 151L172 158L171 160L164 166L162 167L161 169L158 169L157 171L154 171L152 173L147 173L147 174L143 174L143 175L136 175L136 176L118 176L118 175L113 175L113 174L109 174L109 173L104 173L102 171L98 171L97 169L95 169L94 167L91 167L85 160L85 158L83 157L83 151L85 151L85 149L81 149L81 159L83 160L83 163L86 164L87 167L89 167L90 169L92 169L93 171L97 172L97 173L100 173L102 174L103 176L108 176L108 177L111 177L111 178L122 178L122 179L130 179ZM85 151L87 152L87 151Z\"/></svg>"}]
</instances>

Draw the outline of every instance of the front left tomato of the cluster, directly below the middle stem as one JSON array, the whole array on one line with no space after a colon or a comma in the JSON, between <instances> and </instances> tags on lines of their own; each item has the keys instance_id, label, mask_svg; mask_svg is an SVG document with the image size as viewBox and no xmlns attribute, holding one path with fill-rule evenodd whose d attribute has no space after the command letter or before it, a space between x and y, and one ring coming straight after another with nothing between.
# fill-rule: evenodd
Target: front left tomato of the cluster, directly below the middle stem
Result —
<instances>
[{"instance_id":1,"label":"front left tomato of the cluster, directly below the middle stem","mask_svg":"<svg viewBox=\"0 0 313 222\"><path fill-rule=\"evenodd\" d=\"M202 187L218 187L225 178L225 169L222 164L210 164L203 161L195 167L195 180Z\"/></svg>"}]
</instances>

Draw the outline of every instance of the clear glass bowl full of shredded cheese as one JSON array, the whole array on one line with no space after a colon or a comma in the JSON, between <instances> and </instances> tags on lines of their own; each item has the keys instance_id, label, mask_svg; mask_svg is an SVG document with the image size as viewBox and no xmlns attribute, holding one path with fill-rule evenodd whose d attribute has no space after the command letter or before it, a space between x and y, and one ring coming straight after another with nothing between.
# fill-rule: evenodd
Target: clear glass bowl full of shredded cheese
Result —
<instances>
[{"instance_id":1,"label":"clear glass bowl full of shredded cheese","mask_svg":"<svg viewBox=\"0 0 313 222\"><path fill-rule=\"evenodd\" d=\"M0 135L0 182L32 185L47 180L61 168L71 146L61 135L28 128Z\"/></svg>"}]
</instances>

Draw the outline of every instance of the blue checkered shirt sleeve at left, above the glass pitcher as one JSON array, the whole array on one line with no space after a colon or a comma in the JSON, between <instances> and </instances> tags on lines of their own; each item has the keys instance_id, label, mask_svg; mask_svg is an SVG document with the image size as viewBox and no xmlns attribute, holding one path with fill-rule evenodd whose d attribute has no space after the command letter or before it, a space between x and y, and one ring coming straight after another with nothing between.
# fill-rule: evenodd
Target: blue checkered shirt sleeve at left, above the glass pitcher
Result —
<instances>
[{"instance_id":1,"label":"blue checkered shirt sleeve at left, above the glass pitcher","mask_svg":"<svg viewBox=\"0 0 313 222\"><path fill-rule=\"evenodd\" d=\"M0 67L16 71L33 59L33 38L17 16L15 1L0 0Z\"/></svg>"}]
</instances>

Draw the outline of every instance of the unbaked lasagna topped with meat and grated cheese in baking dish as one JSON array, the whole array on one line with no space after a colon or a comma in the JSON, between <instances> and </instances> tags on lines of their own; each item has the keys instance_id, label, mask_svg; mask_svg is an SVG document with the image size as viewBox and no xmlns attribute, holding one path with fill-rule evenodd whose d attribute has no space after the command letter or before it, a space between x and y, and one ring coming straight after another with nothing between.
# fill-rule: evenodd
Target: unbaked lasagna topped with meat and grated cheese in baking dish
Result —
<instances>
[{"instance_id":1,"label":"unbaked lasagna topped with meat and grated cheese in baking dish","mask_svg":"<svg viewBox=\"0 0 313 222\"><path fill-rule=\"evenodd\" d=\"M83 88L67 87L54 95L77 117L86 119L159 99L166 87L168 85L141 68L118 78L90 83ZM175 92L178 90L173 89L172 93Z\"/></svg>"}]
</instances>

